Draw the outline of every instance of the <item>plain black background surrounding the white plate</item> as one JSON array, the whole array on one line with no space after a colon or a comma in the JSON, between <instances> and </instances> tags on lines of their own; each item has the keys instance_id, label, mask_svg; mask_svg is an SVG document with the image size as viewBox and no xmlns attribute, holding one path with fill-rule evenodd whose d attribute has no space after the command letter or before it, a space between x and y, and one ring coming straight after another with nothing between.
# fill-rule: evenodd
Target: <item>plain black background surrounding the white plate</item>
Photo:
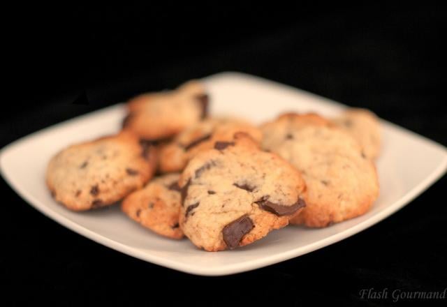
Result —
<instances>
[{"instance_id":1,"label":"plain black background surrounding the white plate","mask_svg":"<svg viewBox=\"0 0 447 307\"><path fill-rule=\"evenodd\" d=\"M164 4L5 12L0 147L136 93L228 70L367 107L447 145L444 8ZM83 93L88 103L73 103ZM447 287L446 183L444 177L338 244L249 273L204 278L95 244L29 207L2 181L2 298L59 306L394 305L359 292Z\"/></svg>"}]
</instances>

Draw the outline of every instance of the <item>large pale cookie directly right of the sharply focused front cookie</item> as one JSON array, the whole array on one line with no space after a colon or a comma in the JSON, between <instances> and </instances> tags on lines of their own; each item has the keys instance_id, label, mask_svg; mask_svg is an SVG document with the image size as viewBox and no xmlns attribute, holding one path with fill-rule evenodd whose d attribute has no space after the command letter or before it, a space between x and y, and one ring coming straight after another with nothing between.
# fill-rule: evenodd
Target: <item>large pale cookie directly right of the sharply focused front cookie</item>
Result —
<instances>
[{"instance_id":1,"label":"large pale cookie directly right of the sharply focused front cookie","mask_svg":"<svg viewBox=\"0 0 447 307\"><path fill-rule=\"evenodd\" d=\"M307 207L291 223L325 227L365 214L379 195L372 161L348 133L317 115L287 114L262 127L263 148L305 179Z\"/></svg>"}]
</instances>

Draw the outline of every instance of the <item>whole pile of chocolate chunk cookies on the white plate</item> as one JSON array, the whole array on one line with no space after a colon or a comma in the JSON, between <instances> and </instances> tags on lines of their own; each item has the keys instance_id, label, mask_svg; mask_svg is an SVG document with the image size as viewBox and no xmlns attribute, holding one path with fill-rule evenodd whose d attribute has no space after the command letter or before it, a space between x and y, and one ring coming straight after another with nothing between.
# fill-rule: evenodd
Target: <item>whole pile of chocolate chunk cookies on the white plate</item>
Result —
<instances>
[{"instance_id":1,"label":"whole pile of chocolate chunk cookies on the white plate","mask_svg":"<svg viewBox=\"0 0 447 307\"><path fill-rule=\"evenodd\" d=\"M196 81L133 98L117 135L50 160L54 200L74 211L120 202L143 227L218 251L289 223L327 227L360 216L378 197L372 112L288 113L254 126L209 117L209 103Z\"/></svg>"}]
</instances>

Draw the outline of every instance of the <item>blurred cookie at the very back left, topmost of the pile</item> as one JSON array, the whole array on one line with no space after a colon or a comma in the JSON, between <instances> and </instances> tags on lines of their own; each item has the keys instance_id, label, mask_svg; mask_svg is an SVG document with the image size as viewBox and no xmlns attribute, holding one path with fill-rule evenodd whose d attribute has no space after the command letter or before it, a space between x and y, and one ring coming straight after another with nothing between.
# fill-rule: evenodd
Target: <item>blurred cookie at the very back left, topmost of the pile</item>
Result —
<instances>
[{"instance_id":1,"label":"blurred cookie at the very back left, topmost of the pile","mask_svg":"<svg viewBox=\"0 0 447 307\"><path fill-rule=\"evenodd\" d=\"M137 96L127 107L123 129L144 140L163 140L204 119L208 96L202 84L191 81L175 91Z\"/></svg>"}]
</instances>

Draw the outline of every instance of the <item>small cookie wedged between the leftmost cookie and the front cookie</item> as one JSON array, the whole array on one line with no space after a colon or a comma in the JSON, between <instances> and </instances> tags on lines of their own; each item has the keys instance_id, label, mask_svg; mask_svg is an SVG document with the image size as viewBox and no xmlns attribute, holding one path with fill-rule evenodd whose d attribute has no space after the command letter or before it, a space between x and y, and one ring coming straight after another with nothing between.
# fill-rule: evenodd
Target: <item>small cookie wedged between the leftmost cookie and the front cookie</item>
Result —
<instances>
[{"instance_id":1,"label":"small cookie wedged between the leftmost cookie and the front cookie","mask_svg":"<svg viewBox=\"0 0 447 307\"><path fill-rule=\"evenodd\" d=\"M181 195L179 174L157 177L142 190L133 192L122 202L122 211L157 234L182 239L179 227Z\"/></svg>"}]
</instances>

